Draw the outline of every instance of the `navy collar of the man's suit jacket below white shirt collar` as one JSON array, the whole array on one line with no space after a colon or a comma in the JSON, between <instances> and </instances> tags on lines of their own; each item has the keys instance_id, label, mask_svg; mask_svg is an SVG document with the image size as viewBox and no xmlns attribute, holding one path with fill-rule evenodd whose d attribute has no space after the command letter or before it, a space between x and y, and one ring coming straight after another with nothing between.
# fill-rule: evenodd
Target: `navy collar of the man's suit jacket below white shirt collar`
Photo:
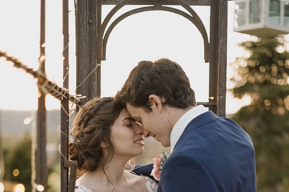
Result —
<instances>
[{"instance_id":1,"label":"navy collar of the man's suit jacket below white shirt collar","mask_svg":"<svg viewBox=\"0 0 289 192\"><path fill-rule=\"evenodd\" d=\"M188 134L188 132L202 126L205 125L207 123L213 122L217 119L219 119L219 116L216 116L215 113L213 113L212 111L207 111L203 114L200 114L199 116L197 116L196 118L192 119L191 122L189 122L189 124L186 126L184 132L182 133L181 137L179 138L179 140L176 143L176 146L181 143L181 141L184 139L184 137ZM176 146L174 147L173 151L176 149Z\"/></svg>"}]
</instances>

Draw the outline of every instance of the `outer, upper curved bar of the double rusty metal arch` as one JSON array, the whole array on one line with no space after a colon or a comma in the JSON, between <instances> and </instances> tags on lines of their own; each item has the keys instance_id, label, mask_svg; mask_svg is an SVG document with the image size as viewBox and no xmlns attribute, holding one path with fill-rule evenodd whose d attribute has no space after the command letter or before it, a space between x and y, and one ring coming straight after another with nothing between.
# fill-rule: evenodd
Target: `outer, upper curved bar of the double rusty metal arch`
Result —
<instances>
[{"instance_id":1,"label":"outer, upper curved bar of the double rusty metal arch","mask_svg":"<svg viewBox=\"0 0 289 192\"><path fill-rule=\"evenodd\" d=\"M98 60L101 60L102 58L102 49L103 49L103 35L104 35L104 31L107 27L108 22L110 21L110 19L112 18L112 16L118 11L120 10L120 8L122 8L124 5L132 2L133 0L123 0L121 1L119 4L117 4L115 7L113 7L113 9L107 14L107 16L105 17L103 23L101 24L101 27L99 29L98 32L98 37L97 37L97 52L98 52ZM170 0L178 5L181 5L182 7L184 7L189 13L191 13L192 18L195 21L195 26L197 27L197 29L201 32L201 34L206 34L206 29L205 26L203 24L203 22L201 21L200 17L197 15L197 13L187 4L185 3L185 1L182 0ZM163 6L155 6L155 7L163 7ZM132 10L133 11L133 10ZM175 12L174 12L175 13ZM187 14L187 13L186 13ZM203 37L204 38L204 37ZM205 41L205 40L204 40ZM204 46L206 47L206 46ZM209 61L209 49L205 49L204 51L204 59L206 62ZM100 61L98 61L100 62Z\"/></svg>"}]
</instances>

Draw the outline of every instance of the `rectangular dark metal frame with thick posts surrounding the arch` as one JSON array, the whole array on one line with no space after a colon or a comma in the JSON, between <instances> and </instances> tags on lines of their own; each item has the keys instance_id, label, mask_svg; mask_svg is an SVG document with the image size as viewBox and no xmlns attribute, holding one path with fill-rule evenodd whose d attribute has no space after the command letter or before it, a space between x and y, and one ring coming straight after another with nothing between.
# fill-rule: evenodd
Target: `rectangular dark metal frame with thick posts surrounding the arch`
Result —
<instances>
[{"instance_id":1,"label":"rectangular dark metal frame with thick posts surrounding the arch","mask_svg":"<svg viewBox=\"0 0 289 192\"><path fill-rule=\"evenodd\" d=\"M225 117L228 0L78 0L76 9L77 86L92 70L95 70L97 63L101 63L102 55L100 57L98 53L102 54L103 46L106 48L105 41L109 36L109 33L106 33L106 36L102 39L104 32L101 32L101 30L105 30L106 27L104 28L104 26L107 25L105 22L108 23L109 17L107 16L101 24L101 6L112 4L116 5L112 10L115 12L116 9L126 4L154 5L161 8L165 7L161 5L182 5L191 13L192 16L189 14L188 16L192 18L194 18L194 13L192 13L194 10L191 9L190 5L210 6L209 101L198 104L203 104L217 115ZM112 15L112 11L109 14ZM110 25L108 30L111 30L112 26ZM101 29L101 27L104 29ZM100 41L98 41L98 38L100 38ZM101 66L97 67L95 73L92 73L86 82L77 88L76 93L86 95L88 99L100 96L100 81Z\"/></svg>"}]
</instances>

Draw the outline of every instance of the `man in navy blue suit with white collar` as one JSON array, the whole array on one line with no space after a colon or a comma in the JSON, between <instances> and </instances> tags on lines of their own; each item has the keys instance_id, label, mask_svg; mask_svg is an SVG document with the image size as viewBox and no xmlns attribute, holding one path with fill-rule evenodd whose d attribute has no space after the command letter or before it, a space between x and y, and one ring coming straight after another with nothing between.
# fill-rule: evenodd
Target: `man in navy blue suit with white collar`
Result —
<instances>
[{"instance_id":1,"label":"man in navy blue suit with white collar","mask_svg":"<svg viewBox=\"0 0 289 192\"><path fill-rule=\"evenodd\" d=\"M158 192L255 192L251 137L233 120L196 104L185 72L176 62L141 61L130 72L116 103L172 154L163 166ZM152 165L134 170L150 175Z\"/></svg>"}]
</instances>

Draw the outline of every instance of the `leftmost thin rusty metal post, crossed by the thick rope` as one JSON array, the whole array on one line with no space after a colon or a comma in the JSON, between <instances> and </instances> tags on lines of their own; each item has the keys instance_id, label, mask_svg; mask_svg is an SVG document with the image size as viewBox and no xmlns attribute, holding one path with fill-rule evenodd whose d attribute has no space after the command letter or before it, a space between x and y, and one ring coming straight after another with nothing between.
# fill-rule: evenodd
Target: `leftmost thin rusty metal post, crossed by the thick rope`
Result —
<instances>
[{"instance_id":1,"label":"leftmost thin rusty metal post, crossed by the thick rope","mask_svg":"<svg viewBox=\"0 0 289 192\"><path fill-rule=\"evenodd\" d=\"M45 0L41 0L40 10L40 70L45 73ZM37 110L37 168L36 182L47 191L47 170L46 170L46 108L45 93L39 91Z\"/></svg>"}]
</instances>

